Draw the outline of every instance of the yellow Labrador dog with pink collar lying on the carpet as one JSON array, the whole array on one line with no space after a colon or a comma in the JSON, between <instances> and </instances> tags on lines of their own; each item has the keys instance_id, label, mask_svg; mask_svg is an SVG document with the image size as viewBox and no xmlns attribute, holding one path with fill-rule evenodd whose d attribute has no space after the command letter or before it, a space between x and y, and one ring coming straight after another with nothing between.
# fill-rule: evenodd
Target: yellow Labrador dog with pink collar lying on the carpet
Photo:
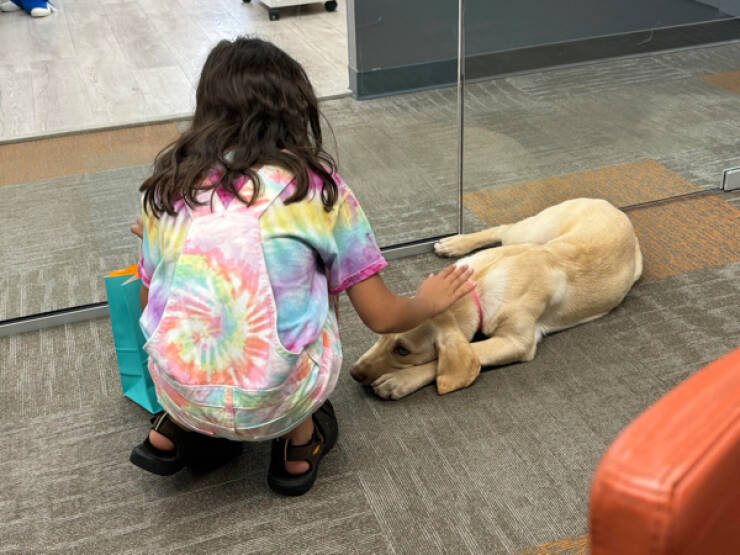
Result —
<instances>
[{"instance_id":1,"label":"yellow Labrador dog with pink collar lying on the carpet","mask_svg":"<svg viewBox=\"0 0 740 555\"><path fill-rule=\"evenodd\" d=\"M632 223L605 200L574 199L531 218L443 239L441 256L473 268L473 293L404 332L382 335L350 370L384 399L437 381L437 393L469 386L481 365L534 358L550 332L605 315L642 274ZM471 343L477 331L487 339Z\"/></svg>"}]
</instances>

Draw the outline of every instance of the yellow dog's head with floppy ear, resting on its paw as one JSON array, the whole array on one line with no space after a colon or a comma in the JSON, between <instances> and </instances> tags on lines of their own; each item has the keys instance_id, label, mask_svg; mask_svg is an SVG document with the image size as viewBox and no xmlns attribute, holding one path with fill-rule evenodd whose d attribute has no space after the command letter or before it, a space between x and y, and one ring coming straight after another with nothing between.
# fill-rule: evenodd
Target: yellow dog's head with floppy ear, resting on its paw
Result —
<instances>
[{"instance_id":1,"label":"yellow dog's head with floppy ear, resting on its paw","mask_svg":"<svg viewBox=\"0 0 740 555\"><path fill-rule=\"evenodd\" d=\"M360 383L410 366L437 360L437 393L469 386L480 372L480 361L457 326L444 312L404 333L381 335L350 370Z\"/></svg>"}]
</instances>

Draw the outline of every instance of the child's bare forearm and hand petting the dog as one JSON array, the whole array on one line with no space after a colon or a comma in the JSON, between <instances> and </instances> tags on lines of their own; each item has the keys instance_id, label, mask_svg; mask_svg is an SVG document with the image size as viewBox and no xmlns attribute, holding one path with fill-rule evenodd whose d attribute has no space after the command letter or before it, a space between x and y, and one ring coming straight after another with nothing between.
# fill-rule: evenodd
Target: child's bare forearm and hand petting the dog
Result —
<instances>
[{"instance_id":1,"label":"child's bare forearm and hand petting the dog","mask_svg":"<svg viewBox=\"0 0 740 555\"><path fill-rule=\"evenodd\" d=\"M394 295L375 274L347 289L352 306L375 333L399 333L447 309L475 286L468 281L473 270L448 266L436 276L429 274L413 297Z\"/></svg>"}]
</instances>

